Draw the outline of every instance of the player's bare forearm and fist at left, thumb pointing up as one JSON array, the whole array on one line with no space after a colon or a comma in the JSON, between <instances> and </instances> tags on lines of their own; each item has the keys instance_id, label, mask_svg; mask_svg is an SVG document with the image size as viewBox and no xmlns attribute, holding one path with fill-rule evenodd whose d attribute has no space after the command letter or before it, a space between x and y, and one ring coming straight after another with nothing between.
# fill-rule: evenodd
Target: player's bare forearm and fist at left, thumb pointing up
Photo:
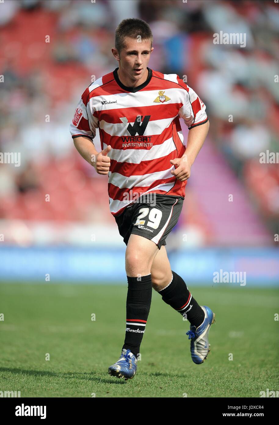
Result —
<instances>
[{"instance_id":1,"label":"player's bare forearm and fist at left, thumb pointing up","mask_svg":"<svg viewBox=\"0 0 279 425\"><path fill-rule=\"evenodd\" d=\"M78 150L89 164L93 165L98 174L105 175L109 173L110 158L107 154L111 150L110 145L101 152L98 152L94 143L87 137L79 136L75 137L73 140L76 150Z\"/></svg>"}]
</instances>

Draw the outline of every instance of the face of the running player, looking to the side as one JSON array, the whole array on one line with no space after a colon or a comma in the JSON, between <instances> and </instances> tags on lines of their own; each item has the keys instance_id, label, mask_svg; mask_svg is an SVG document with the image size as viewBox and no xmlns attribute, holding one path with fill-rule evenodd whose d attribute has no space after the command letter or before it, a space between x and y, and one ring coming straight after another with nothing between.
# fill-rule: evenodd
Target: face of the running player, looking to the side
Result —
<instances>
[{"instance_id":1,"label":"face of the running player, looking to the side","mask_svg":"<svg viewBox=\"0 0 279 425\"><path fill-rule=\"evenodd\" d=\"M126 43L120 51L119 68L123 69L127 77L133 80L140 80L146 74L146 68L150 59L151 42L137 40L126 37Z\"/></svg>"}]
</instances>

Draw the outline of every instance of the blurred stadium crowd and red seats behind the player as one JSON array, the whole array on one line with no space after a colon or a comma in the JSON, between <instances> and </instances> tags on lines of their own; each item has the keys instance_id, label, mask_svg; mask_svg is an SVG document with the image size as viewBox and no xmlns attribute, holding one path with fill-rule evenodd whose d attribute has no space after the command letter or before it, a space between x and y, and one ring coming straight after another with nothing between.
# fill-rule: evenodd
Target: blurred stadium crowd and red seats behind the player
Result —
<instances>
[{"instance_id":1,"label":"blurred stadium crowd and red seats behind the player","mask_svg":"<svg viewBox=\"0 0 279 425\"><path fill-rule=\"evenodd\" d=\"M126 17L151 26L155 49L148 66L187 78L207 106L210 137L197 165L202 176L198 181L193 173L193 184L189 180L178 226L199 235L202 245L226 244L225 204L239 190L231 223L246 218L254 224L246 238L232 229L233 243L273 244L279 232L279 164L259 161L261 152L279 152L279 5L273 1L0 4L0 152L21 153L20 167L0 164L0 220L9 226L14 220L116 226L107 178L78 155L68 128L92 75L97 79L117 68L111 48L115 28ZM245 33L246 47L214 44L213 34L221 30ZM225 201L212 208L212 196L220 193Z\"/></svg>"}]
</instances>

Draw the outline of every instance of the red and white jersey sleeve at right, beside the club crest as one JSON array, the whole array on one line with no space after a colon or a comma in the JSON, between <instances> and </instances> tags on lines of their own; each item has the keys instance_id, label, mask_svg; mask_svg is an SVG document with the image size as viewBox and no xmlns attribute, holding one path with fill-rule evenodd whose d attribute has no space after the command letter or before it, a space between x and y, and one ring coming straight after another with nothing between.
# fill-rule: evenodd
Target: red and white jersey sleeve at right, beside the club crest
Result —
<instances>
[{"instance_id":1,"label":"red and white jersey sleeve at right, beside the club crest","mask_svg":"<svg viewBox=\"0 0 279 425\"><path fill-rule=\"evenodd\" d=\"M195 91L193 91L193 88L185 84L183 80L179 79L179 77L178 83L181 86L181 89L184 89L180 94L182 106L179 109L179 117L184 119L189 130L197 127L198 125L205 124L208 121L208 118L204 102L198 97Z\"/></svg>"}]
</instances>

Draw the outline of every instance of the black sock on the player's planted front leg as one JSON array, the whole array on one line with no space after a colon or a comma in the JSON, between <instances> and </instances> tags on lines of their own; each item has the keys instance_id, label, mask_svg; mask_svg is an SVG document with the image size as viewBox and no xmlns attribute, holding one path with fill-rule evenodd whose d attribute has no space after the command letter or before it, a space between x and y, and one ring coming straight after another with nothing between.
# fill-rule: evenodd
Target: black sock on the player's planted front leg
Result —
<instances>
[{"instance_id":1,"label":"black sock on the player's planted front leg","mask_svg":"<svg viewBox=\"0 0 279 425\"><path fill-rule=\"evenodd\" d=\"M129 348L137 357L151 306L151 274L141 278L127 276L127 279L126 334L123 348Z\"/></svg>"}]
</instances>

